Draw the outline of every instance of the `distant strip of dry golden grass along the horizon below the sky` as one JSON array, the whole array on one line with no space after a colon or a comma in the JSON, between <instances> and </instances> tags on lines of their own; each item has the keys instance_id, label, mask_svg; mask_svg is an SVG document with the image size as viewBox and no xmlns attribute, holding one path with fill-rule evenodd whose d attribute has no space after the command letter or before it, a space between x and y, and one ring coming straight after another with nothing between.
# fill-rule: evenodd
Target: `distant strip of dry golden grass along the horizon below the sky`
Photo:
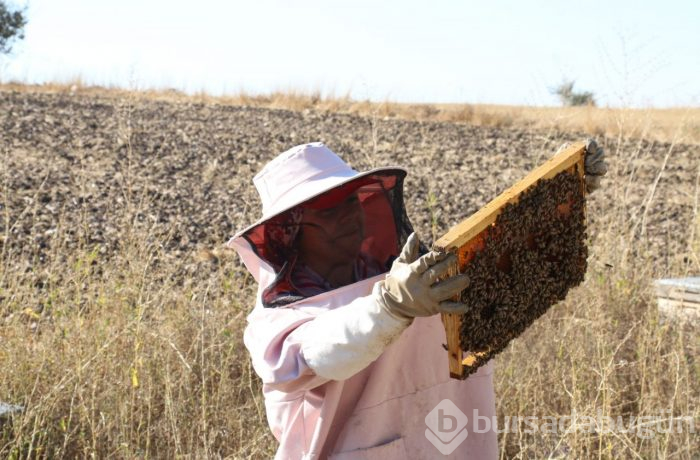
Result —
<instances>
[{"instance_id":1,"label":"distant strip of dry golden grass along the horizon below the sky","mask_svg":"<svg viewBox=\"0 0 700 460\"><path fill-rule=\"evenodd\" d=\"M206 93L187 95L178 90L128 91L118 88L88 86L80 80L66 84L25 85L0 84L0 89L44 91L112 96L115 98L148 98L164 101L230 104L286 110L319 110L356 113L381 118L402 118L421 121L447 121L477 126L524 127L579 131L589 135L643 138L661 142L700 144L700 108L611 109L597 107L524 107L479 104L405 104L395 102L356 101L349 96L323 97L320 92L274 92L250 95L241 92L231 96Z\"/></svg>"}]
</instances>

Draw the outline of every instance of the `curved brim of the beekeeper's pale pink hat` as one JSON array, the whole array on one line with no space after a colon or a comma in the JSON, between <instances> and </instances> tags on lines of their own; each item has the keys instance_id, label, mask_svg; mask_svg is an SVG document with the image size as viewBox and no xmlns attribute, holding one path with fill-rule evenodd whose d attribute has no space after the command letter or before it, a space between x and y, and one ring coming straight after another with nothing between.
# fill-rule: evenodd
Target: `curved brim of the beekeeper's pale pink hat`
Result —
<instances>
[{"instance_id":1,"label":"curved brim of the beekeeper's pale pink hat","mask_svg":"<svg viewBox=\"0 0 700 460\"><path fill-rule=\"evenodd\" d=\"M323 194L325 194L333 189L348 185L348 184L355 182L355 181L361 182L363 179L367 178L368 176L386 175L387 173L390 173L390 174L395 175L395 176L405 177L408 174L408 171L405 170L404 168L399 168L399 167L375 168L375 169L372 169L372 170L367 171L367 172L354 174L352 176L346 176L346 177L330 176L330 177L324 178L321 181L315 181L315 182L304 184L305 189L313 188L313 192L310 190L302 190L298 194L299 199L289 201L278 209L272 209L270 211L267 211L255 223L245 227L243 230L236 232L236 234L233 235L229 239L229 241L228 241L228 243L226 243L226 245L229 246L234 240L245 235L246 233L248 233L249 231L251 231L255 227L258 227L259 225L263 225L265 222L272 219L273 217L278 216L286 211L289 211L290 209L292 209L296 206L299 206L300 204L303 204L303 203L306 203L309 201L313 201L315 198L318 198L320 195L323 195ZM363 185L365 185L365 184L359 185L358 188L362 187Z\"/></svg>"}]
</instances>

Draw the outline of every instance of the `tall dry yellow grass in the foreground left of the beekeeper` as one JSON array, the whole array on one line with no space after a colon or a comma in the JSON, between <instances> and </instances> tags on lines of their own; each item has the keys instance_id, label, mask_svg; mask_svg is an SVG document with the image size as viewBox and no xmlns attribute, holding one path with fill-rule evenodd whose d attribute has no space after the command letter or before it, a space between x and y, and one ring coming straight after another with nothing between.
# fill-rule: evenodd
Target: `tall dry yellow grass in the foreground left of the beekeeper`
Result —
<instances>
[{"instance_id":1,"label":"tall dry yellow grass in the foreground left of the beekeeper","mask_svg":"<svg viewBox=\"0 0 700 460\"><path fill-rule=\"evenodd\" d=\"M3 251L0 400L27 410L0 428L0 458L271 458L241 342L252 278L202 251L194 262L213 276L173 281L191 261L155 268L163 241L135 230L134 200L117 257L56 247L40 295L37 273Z\"/></svg>"}]
</instances>

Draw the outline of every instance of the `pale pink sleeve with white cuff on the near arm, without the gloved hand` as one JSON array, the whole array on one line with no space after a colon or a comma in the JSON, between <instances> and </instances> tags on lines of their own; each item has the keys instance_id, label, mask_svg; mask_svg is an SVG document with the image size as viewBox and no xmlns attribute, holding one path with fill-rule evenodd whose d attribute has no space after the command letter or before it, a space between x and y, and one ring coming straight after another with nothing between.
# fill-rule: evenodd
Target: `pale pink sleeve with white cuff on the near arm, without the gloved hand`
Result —
<instances>
[{"instance_id":1,"label":"pale pink sleeve with white cuff on the near arm, without the gloved hand","mask_svg":"<svg viewBox=\"0 0 700 460\"><path fill-rule=\"evenodd\" d=\"M352 377L411 323L390 315L374 296L314 313L258 305L244 335L255 371L270 388L285 392Z\"/></svg>"}]
</instances>

